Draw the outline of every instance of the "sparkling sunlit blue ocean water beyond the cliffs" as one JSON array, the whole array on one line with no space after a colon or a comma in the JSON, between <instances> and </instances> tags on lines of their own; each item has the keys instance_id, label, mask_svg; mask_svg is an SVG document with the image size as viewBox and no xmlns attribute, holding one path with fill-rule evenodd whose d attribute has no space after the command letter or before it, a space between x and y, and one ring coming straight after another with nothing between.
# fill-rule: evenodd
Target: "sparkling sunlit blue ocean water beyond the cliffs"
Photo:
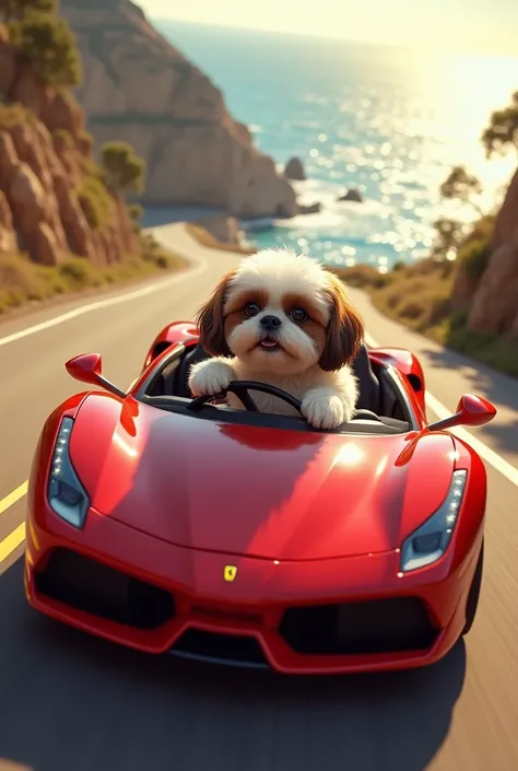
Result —
<instances>
[{"instance_id":1,"label":"sparkling sunlit blue ocean water beyond the cliffs","mask_svg":"<svg viewBox=\"0 0 518 771\"><path fill-rule=\"evenodd\" d=\"M438 217L473 219L471 207L439 198L454 165L482 179L486 208L516 167L516 153L487 161L480 135L518 90L518 58L155 23L223 90L261 150L279 164L301 157L308 177L297 185L301 200L322 203L319 214L250 233L254 244L385 272L429 253ZM363 203L337 202L349 187Z\"/></svg>"}]
</instances>

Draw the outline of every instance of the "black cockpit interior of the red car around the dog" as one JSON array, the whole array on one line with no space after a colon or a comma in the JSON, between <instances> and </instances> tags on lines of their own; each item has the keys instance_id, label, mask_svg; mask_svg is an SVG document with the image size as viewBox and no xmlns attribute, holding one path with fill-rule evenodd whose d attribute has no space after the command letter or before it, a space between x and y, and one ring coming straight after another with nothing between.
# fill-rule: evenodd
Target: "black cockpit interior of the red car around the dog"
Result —
<instances>
[{"instance_id":1,"label":"black cockpit interior of the red car around the dog","mask_svg":"<svg viewBox=\"0 0 518 771\"><path fill-rule=\"evenodd\" d=\"M164 346L167 347L167 343ZM162 353L164 348L155 350L155 355ZM177 355L166 358L163 365L152 373L144 384L138 398L148 404L153 404L163 409L189 413L187 406L192 400L188 387L188 377L193 364L209 359L210 354L200 343L190 346ZM360 399L354 418L331 433L376 433L392 434L405 433L413 428L414 419L409 405L403 397L390 369L373 363L365 344L352 363L354 373L360 382ZM207 400L205 400L207 401ZM221 411L225 409L224 420L228 422L246 422L258 425L272 425L279 428L311 430L306 421L298 417L264 416L257 412L243 412L231 410L225 405L203 405L203 409L196 411L197 417L205 419L222 419ZM193 412L191 412L192 414ZM237 414L236 414L237 413ZM272 422L272 420L274 422Z\"/></svg>"}]
</instances>

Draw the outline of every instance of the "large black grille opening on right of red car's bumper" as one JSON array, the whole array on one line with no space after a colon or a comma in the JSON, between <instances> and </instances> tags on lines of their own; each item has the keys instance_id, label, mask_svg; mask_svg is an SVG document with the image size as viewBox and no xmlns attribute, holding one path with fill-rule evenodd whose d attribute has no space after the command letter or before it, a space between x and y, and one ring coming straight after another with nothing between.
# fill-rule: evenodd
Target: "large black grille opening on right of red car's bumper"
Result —
<instances>
[{"instance_id":1,"label":"large black grille opening on right of red car's bumper","mask_svg":"<svg viewBox=\"0 0 518 771\"><path fill-rule=\"evenodd\" d=\"M417 597L290 608L279 632L296 653L306 655L422 651L438 634Z\"/></svg>"}]
</instances>

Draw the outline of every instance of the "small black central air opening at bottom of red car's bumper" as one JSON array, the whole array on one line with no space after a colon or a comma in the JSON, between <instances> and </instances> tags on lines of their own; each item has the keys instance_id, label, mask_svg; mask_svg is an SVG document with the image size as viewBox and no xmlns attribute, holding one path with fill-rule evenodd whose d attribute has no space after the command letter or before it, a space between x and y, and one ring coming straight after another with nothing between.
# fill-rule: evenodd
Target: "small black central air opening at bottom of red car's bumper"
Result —
<instances>
[{"instance_id":1,"label":"small black central air opening at bottom of red car's bumper","mask_svg":"<svg viewBox=\"0 0 518 771\"><path fill-rule=\"evenodd\" d=\"M269 664L255 638L188 629L169 653L217 664L267 668Z\"/></svg>"}]
</instances>

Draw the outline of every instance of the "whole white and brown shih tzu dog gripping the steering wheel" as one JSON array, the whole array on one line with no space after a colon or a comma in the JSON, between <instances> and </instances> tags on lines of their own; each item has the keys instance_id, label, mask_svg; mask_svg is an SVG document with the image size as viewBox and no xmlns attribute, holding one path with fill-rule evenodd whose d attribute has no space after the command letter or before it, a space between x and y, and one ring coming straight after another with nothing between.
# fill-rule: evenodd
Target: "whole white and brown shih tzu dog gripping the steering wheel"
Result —
<instances>
[{"instance_id":1,"label":"whole white and brown shih tzu dog gripping the steering wheel","mask_svg":"<svg viewBox=\"0 0 518 771\"><path fill-rule=\"evenodd\" d=\"M351 419L358 396L350 366L364 326L343 283L310 257L264 249L245 258L199 309L200 342L213 359L189 374L193 396L260 381L292 394L315 429ZM261 412L296 414L281 399L252 393ZM228 394L228 404L243 409Z\"/></svg>"}]
</instances>

